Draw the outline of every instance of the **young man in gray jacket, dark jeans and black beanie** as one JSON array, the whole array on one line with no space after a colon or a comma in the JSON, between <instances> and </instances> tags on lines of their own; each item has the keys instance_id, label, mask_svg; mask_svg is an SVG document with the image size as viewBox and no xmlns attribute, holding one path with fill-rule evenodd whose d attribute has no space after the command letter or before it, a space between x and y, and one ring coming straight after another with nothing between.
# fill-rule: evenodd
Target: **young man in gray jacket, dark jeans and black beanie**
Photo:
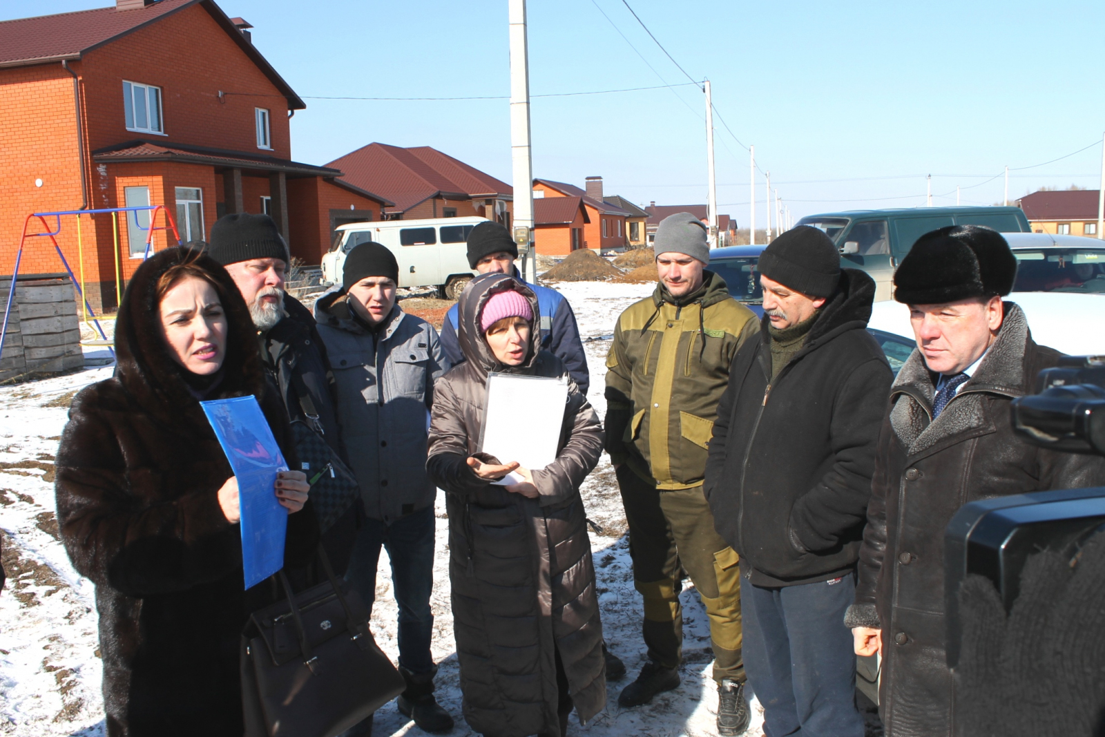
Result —
<instances>
[{"instance_id":1,"label":"young man in gray jacket, dark jeans and black beanie","mask_svg":"<svg viewBox=\"0 0 1105 737\"><path fill-rule=\"evenodd\" d=\"M433 502L427 476L428 412L433 383L449 368L438 331L396 304L399 264L379 243L346 257L340 288L315 304L318 333L337 382L343 440L364 503L364 526L346 580L371 606L380 547L391 559L399 604L399 710L425 731L452 729L433 697ZM368 735L371 718L347 735Z\"/></svg>"}]
</instances>

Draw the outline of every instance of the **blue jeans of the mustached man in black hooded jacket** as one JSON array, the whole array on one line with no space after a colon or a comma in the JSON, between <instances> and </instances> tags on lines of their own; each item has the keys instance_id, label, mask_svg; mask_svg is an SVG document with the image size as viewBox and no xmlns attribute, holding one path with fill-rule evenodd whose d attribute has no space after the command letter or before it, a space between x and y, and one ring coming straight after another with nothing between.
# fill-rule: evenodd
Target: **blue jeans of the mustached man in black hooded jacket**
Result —
<instances>
[{"instance_id":1,"label":"blue jeans of the mustached man in black hooded jacket","mask_svg":"<svg viewBox=\"0 0 1105 737\"><path fill-rule=\"evenodd\" d=\"M767 737L863 737L852 632L844 627L854 596L854 573L781 588L740 577L745 672L764 705Z\"/></svg>"}]
</instances>

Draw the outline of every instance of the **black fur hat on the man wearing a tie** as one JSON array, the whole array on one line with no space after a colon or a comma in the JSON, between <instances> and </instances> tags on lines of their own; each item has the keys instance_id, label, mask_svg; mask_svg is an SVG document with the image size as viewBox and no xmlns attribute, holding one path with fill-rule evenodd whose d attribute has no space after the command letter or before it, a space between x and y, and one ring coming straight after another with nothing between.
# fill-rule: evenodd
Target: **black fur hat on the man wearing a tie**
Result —
<instances>
[{"instance_id":1,"label":"black fur hat on the man wearing a tie","mask_svg":"<svg viewBox=\"0 0 1105 737\"><path fill-rule=\"evenodd\" d=\"M1017 257L1001 233L982 225L947 225L925 233L894 272L894 298L940 305L1006 296L1017 278Z\"/></svg>"}]
</instances>

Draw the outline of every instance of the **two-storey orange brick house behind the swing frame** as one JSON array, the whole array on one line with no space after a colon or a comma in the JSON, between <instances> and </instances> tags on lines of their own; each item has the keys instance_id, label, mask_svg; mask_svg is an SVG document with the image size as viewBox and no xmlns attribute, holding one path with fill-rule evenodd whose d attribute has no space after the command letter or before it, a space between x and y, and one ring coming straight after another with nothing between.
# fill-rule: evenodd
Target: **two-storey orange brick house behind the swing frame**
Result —
<instances>
[{"instance_id":1,"label":"two-storey orange brick house behind the swing frame","mask_svg":"<svg viewBox=\"0 0 1105 737\"><path fill-rule=\"evenodd\" d=\"M212 0L0 22L0 273L31 212L162 204L183 241L206 240L223 213L269 212L308 264L339 221L380 219L386 198L291 160L288 118L305 105L249 28ZM59 244L96 308L114 307L141 263L138 217L118 218L116 257L112 214L82 215L83 264L76 219L61 219ZM155 249L168 243L155 232ZM30 240L20 272L60 271L49 240Z\"/></svg>"}]
</instances>

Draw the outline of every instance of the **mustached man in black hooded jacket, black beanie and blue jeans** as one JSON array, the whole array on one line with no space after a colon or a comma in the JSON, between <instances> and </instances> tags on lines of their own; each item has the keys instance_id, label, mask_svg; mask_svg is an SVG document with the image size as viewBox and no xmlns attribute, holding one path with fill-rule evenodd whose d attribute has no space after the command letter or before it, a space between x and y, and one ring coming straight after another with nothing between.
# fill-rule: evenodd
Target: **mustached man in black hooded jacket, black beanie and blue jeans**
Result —
<instances>
[{"instance_id":1,"label":"mustached man in black hooded jacket, black beanie and blue jeans","mask_svg":"<svg viewBox=\"0 0 1105 737\"><path fill-rule=\"evenodd\" d=\"M740 555L744 659L768 735L862 737L844 611L892 375L866 331L875 284L794 228L759 260L759 340L734 357L705 493Z\"/></svg>"}]
</instances>

